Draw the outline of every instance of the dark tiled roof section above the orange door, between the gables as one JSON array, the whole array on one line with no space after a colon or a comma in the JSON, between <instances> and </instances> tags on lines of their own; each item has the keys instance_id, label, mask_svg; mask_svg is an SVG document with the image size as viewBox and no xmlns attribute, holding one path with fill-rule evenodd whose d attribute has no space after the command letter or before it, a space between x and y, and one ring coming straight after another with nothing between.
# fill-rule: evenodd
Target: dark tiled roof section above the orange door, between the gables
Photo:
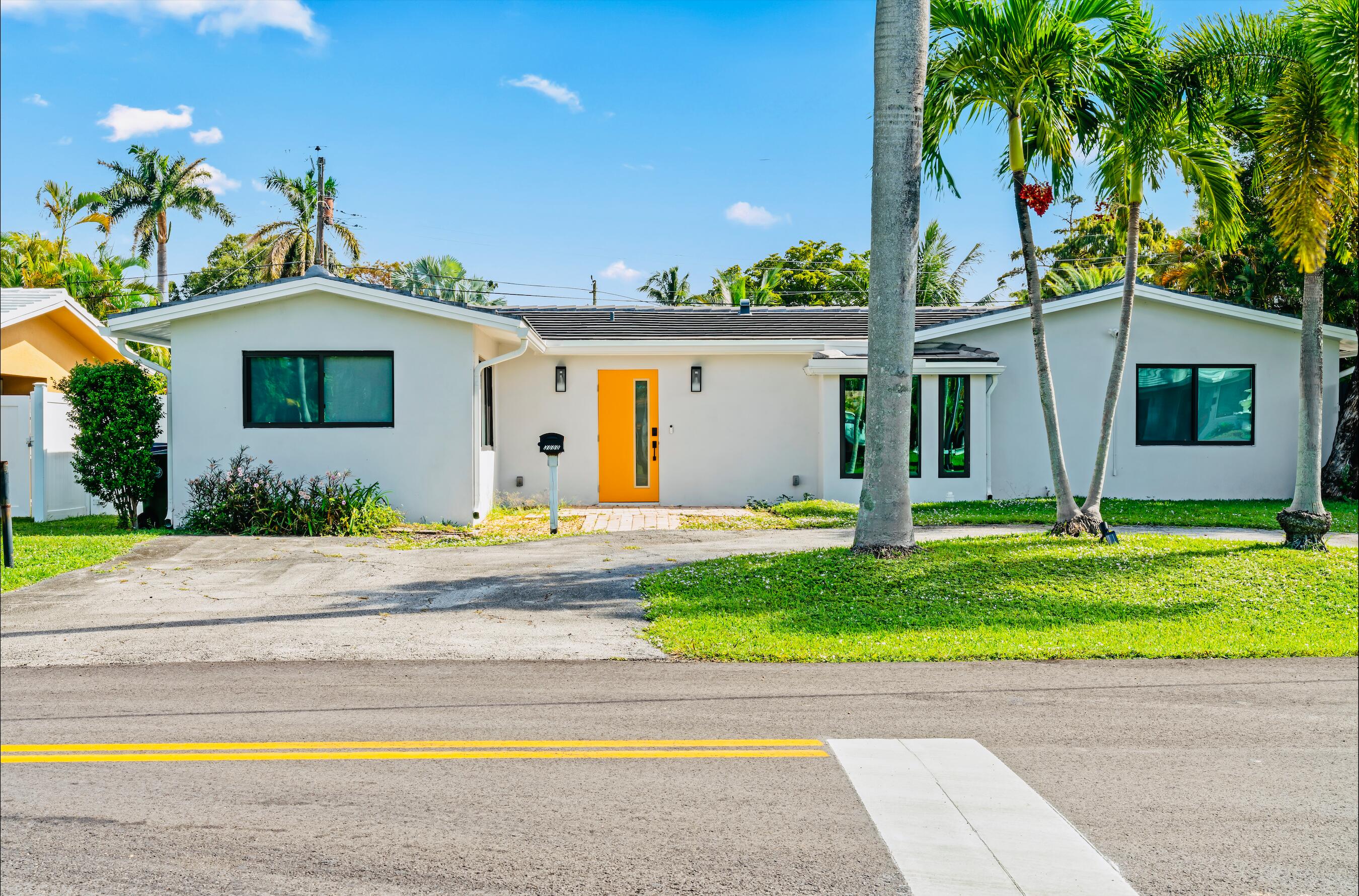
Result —
<instances>
[{"instance_id":1,"label":"dark tiled roof section above the orange door, between the gables","mask_svg":"<svg viewBox=\"0 0 1359 896\"><path fill-rule=\"evenodd\" d=\"M864 305L516 305L496 308L522 318L544 339L867 339ZM985 308L916 308L916 329L964 320Z\"/></svg>"}]
</instances>

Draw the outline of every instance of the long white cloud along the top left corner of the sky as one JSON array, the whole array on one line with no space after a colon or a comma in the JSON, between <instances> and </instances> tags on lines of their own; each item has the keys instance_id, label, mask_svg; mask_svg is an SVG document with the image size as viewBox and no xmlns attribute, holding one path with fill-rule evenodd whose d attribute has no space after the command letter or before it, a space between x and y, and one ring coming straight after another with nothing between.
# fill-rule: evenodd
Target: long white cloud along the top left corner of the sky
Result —
<instances>
[{"instance_id":1,"label":"long white cloud along the top left corner of the sky","mask_svg":"<svg viewBox=\"0 0 1359 896\"><path fill-rule=\"evenodd\" d=\"M39 19L46 12L68 16L103 12L132 22L169 18L196 22L198 34L223 37L279 29L300 34L313 43L326 39L315 14L300 0L0 0L0 14Z\"/></svg>"}]
</instances>

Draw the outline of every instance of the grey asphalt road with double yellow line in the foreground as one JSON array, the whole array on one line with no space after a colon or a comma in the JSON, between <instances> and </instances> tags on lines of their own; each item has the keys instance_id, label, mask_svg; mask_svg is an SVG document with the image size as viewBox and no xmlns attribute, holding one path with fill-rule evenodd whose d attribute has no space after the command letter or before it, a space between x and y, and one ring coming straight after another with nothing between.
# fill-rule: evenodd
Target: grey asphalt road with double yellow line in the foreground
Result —
<instances>
[{"instance_id":1,"label":"grey asphalt road with double yellow line in the foreground","mask_svg":"<svg viewBox=\"0 0 1359 896\"><path fill-rule=\"evenodd\" d=\"M5 744L974 737L1140 893L1356 888L1356 664L5 669ZM902 893L833 758L5 764L5 893Z\"/></svg>"}]
</instances>

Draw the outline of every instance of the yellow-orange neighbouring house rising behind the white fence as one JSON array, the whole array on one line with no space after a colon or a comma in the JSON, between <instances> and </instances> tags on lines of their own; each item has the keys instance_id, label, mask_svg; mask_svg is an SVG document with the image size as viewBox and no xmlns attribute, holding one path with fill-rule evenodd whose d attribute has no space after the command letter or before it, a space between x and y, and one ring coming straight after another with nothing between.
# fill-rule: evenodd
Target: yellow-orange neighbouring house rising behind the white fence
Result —
<instances>
[{"instance_id":1,"label":"yellow-orange neighbouring house rising behind the white fence","mask_svg":"<svg viewBox=\"0 0 1359 896\"><path fill-rule=\"evenodd\" d=\"M56 388L80 361L124 360L101 326L64 289L0 291L0 394Z\"/></svg>"}]
</instances>

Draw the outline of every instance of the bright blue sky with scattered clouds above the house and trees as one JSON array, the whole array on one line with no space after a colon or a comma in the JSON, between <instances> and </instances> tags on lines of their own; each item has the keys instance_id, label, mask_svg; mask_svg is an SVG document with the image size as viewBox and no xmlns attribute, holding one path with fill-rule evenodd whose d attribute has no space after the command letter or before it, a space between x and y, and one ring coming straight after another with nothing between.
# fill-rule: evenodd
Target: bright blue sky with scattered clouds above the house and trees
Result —
<instances>
[{"instance_id":1,"label":"bright blue sky with scattered clouds above the house and trees","mask_svg":"<svg viewBox=\"0 0 1359 896\"><path fill-rule=\"evenodd\" d=\"M257 182L300 174L319 144L366 259L453 254L500 281L594 274L636 295L670 265L704 289L800 239L868 244L871 3L0 3L4 229L43 227L46 178L106 186L96 160L132 143L205 156L232 229L253 229L283 216ZM1280 5L1155 3L1170 30ZM1018 244L1000 145L985 126L950 141L962 198L927 190L921 209L983 243L970 299ZM1093 195L1083 176L1076 191ZM1146 212L1178 228L1192 204L1171 183ZM181 216L170 270L226 232ZM92 250L94 228L75 243Z\"/></svg>"}]
</instances>

